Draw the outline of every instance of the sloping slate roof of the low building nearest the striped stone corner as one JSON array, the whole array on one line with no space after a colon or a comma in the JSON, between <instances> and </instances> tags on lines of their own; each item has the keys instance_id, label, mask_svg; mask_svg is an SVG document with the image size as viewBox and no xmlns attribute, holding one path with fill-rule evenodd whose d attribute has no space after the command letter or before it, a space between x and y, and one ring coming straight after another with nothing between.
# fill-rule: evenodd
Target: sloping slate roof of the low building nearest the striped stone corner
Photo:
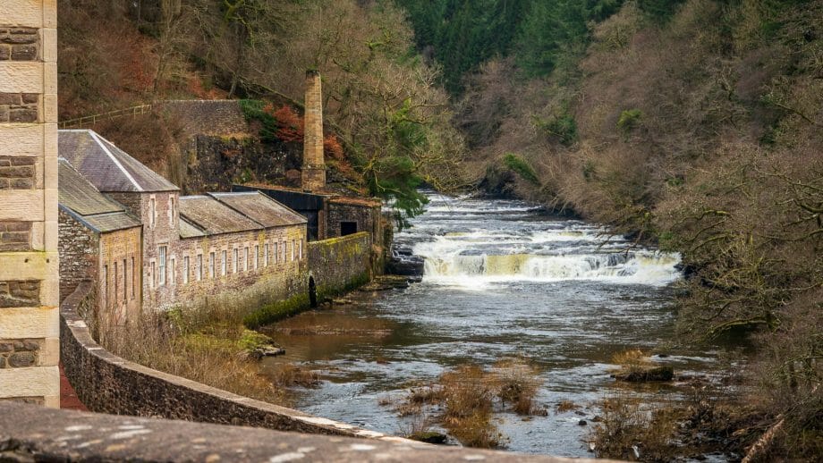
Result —
<instances>
[{"instance_id":1,"label":"sloping slate roof of the low building nearest the striped stone corner","mask_svg":"<svg viewBox=\"0 0 823 463\"><path fill-rule=\"evenodd\" d=\"M139 227L126 208L106 198L64 158L57 160L57 202L66 212L96 232Z\"/></svg>"}]
</instances>

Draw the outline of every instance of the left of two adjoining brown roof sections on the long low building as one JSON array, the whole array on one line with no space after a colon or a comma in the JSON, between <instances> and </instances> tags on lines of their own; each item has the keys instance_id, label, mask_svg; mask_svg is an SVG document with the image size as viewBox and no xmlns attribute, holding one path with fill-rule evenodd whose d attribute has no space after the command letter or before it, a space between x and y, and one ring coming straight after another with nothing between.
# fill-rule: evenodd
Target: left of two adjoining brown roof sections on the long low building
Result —
<instances>
[{"instance_id":1,"label":"left of two adjoining brown roof sections on the long low building","mask_svg":"<svg viewBox=\"0 0 823 463\"><path fill-rule=\"evenodd\" d=\"M180 216L207 235L262 230L263 227L210 196L180 198ZM181 221L182 223L182 221Z\"/></svg>"}]
</instances>

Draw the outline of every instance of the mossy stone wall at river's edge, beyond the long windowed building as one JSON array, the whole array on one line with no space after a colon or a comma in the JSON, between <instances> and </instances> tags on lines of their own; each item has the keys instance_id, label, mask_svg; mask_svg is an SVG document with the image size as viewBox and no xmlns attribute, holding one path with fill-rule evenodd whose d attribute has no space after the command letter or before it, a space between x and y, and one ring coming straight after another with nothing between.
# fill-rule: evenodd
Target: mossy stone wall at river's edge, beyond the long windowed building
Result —
<instances>
[{"instance_id":1,"label":"mossy stone wall at river's edge, beyond the long windowed building","mask_svg":"<svg viewBox=\"0 0 823 463\"><path fill-rule=\"evenodd\" d=\"M368 232L309 243L310 276L319 293L333 294L367 282L371 258Z\"/></svg>"}]
</instances>

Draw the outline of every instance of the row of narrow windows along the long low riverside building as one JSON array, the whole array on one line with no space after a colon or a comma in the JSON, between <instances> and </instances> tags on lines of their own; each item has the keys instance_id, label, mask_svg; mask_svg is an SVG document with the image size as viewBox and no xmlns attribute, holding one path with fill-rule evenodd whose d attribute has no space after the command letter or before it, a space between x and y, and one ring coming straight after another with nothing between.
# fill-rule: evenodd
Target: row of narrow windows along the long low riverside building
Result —
<instances>
[{"instance_id":1,"label":"row of narrow windows along the long low riverside building","mask_svg":"<svg viewBox=\"0 0 823 463\"><path fill-rule=\"evenodd\" d=\"M242 254L241 254L242 252ZM153 289L155 284L157 286L164 286L165 284L176 283L176 261L174 257L168 257L168 247L160 246L158 248L157 258L157 274L155 274L155 263L151 263L151 268L148 275L149 286ZM241 259L242 257L242 259ZM292 240L291 247L289 241L282 241L280 243L264 243L262 246L255 244L253 248L244 246L241 248L232 249L232 267L231 273L248 272L251 269L257 270L260 266L267 267L268 265L276 265L279 262L293 261L294 259L303 258L303 240ZM241 266L242 260L242 266ZM182 283L188 283L192 276L192 266L189 256L182 257ZM197 254L194 257L193 277L196 281L200 281L207 277L207 269L203 265L203 255ZM216 251L208 253L208 278L215 278L217 265ZM228 252L226 249L220 251L220 272L221 276L229 274ZM155 275L157 277L155 278Z\"/></svg>"}]
</instances>

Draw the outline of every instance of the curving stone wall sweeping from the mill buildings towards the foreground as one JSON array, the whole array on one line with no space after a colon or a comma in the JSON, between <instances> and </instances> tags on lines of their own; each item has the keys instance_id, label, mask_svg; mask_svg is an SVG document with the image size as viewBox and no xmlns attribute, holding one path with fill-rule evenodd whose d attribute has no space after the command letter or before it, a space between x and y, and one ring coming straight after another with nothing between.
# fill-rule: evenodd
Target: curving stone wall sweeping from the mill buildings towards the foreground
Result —
<instances>
[{"instance_id":1,"label":"curving stone wall sweeping from the mill buildings towards the foreground","mask_svg":"<svg viewBox=\"0 0 823 463\"><path fill-rule=\"evenodd\" d=\"M77 314L83 305L94 303L90 291L91 283L82 283L64 300L60 325L65 375L89 410L311 434L396 439L251 400L119 358L92 339L88 326Z\"/></svg>"}]
</instances>

